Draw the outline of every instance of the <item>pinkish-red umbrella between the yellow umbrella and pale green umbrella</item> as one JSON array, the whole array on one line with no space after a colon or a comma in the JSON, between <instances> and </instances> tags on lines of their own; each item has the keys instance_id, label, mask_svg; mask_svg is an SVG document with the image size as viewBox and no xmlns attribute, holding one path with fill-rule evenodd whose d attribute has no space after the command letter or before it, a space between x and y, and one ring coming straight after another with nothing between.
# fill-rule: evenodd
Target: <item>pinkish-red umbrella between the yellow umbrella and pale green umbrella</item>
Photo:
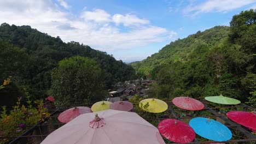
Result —
<instances>
[{"instance_id":1,"label":"pinkish-red umbrella between the yellow umbrella and pale green umbrella","mask_svg":"<svg viewBox=\"0 0 256 144\"><path fill-rule=\"evenodd\" d=\"M181 109L190 111L202 110L205 107L201 101L189 97L176 97L172 103Z\"/></svg>"}]
</instances>

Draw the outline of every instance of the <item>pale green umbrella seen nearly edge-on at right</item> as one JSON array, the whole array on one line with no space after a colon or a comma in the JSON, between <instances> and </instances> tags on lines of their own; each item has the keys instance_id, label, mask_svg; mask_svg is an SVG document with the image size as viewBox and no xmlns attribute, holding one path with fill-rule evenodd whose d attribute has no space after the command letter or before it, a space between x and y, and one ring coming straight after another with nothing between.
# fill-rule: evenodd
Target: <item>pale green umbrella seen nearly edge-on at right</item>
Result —
<instances>
[{"instance_id":1,"label":"pale green umbrella seen nearly edge-on at right","mask_svg":"<svg viewBox=\"0 0 256 144\"><path fill-rule=\"evenodd\" d=\"M237 99L224 97L222 94L220 94L219 96L205 97L205 99L213 103L224 104L224 105L237 105L241 103L241 101Z\"/></svg>"}]
</instances>

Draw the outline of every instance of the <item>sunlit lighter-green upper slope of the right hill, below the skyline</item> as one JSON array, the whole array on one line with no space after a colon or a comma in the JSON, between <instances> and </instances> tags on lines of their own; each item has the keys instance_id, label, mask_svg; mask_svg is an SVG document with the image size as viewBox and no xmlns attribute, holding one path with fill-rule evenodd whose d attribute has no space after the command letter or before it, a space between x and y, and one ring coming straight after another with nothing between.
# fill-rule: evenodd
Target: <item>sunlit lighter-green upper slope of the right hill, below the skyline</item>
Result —
<instances>
[{"instance_id":1,"label":"sunlit lighter-green upper slope of the right hill, below the skyline","mask_svg":"<svg viewBox=\"0 0 256 144\"><path fill-rule=\"evenodd\" d=\"M219 45L223 40L228 38L229 27L216 26L207 29L204 32L198 31L196 34L189 35L187 38L178 39L163 47L158 53L144 59L141 62L131 63L132 67L137 70L141 76L149 76L152 70L159 65L168 64L177 61L187 61L188 56L197 47L207 47Z\"/></svg>"}]
</instances>

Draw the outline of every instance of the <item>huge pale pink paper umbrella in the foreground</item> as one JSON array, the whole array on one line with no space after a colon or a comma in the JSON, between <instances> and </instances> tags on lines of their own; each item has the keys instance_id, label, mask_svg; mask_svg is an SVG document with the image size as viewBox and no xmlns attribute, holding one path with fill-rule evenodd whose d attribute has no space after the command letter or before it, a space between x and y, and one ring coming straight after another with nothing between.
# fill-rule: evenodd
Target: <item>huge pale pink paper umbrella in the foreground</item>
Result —
<instances>
[{"instance_id":1,"label":"huge pale pink paper umbrella in the foreground","mask_svg":"<svg viewBox=\"0 0 256 144\"><path fill-rule=\"evenodd\" d=\"M135 112L85 113L48 135L41 144L165 144L158 129Z\"/></svg>"}]
</instances>

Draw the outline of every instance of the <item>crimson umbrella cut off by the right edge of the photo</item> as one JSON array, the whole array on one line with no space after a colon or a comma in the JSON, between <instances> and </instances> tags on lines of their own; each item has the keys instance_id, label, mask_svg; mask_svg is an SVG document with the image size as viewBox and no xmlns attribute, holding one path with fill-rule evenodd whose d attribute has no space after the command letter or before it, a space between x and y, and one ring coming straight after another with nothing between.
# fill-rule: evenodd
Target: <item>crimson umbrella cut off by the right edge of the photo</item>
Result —
<instances>
[{"instance_id":1,"label":"crimson umbrella cut off by the right edge of the photo","mask_svg":"<svg viewBox=\"0 0 256 144\"><path fill-rule=\"evenodd\" d=\"M230 111L226 113L226 116L247 128L256 129L256 113L254 112Z\"/></svg>"}]
</instances>

